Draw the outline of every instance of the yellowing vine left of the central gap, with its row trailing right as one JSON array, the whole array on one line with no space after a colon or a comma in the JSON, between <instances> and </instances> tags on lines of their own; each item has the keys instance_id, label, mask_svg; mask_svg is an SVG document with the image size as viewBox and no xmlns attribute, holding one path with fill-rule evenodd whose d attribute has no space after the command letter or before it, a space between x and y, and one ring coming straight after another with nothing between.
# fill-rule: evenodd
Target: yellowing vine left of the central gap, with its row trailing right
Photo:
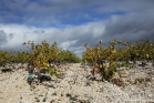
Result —
<instances>
[{"instance_id":1,"label":"yellowing vine left of the central gap, with its row trailing right","mask_svg":"<svg viewBox=\"0 0 154 103\"><path fill-rule=\"evenodd\" d=\"M80 59L71 53L69 50L62 50L57 47L54 42L51 47L47 41L42 41L41 44L34 44L33 41L24 42L30 49L29 63L35 69L47 69L51 75L59 76L54 66L48 66L48 61L66 61L66 62L80 62Z\"/></svg>"}]
</instances>

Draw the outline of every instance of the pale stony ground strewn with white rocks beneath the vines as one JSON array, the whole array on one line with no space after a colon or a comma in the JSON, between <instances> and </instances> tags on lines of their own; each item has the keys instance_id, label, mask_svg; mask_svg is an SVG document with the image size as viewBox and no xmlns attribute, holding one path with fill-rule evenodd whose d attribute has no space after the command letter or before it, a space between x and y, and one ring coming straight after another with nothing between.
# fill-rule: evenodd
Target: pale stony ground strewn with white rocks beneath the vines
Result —
<instances>
[{"instance_id":1,"label":"pale stony ground strewn with white rocks beneath the vines","mask_svg":"<svg viewBox=\"0 0 154 103\"><path fill-rule=\"evenodd\" d=\"M0 103L154 103L154 66L120 68L111 82L91 80L91 68L80 63L58 68L63 76L39 85L27 83L27 65L0 72ZM2 69L2 68L0 68Z\"/></svg>"}]
</instances>

